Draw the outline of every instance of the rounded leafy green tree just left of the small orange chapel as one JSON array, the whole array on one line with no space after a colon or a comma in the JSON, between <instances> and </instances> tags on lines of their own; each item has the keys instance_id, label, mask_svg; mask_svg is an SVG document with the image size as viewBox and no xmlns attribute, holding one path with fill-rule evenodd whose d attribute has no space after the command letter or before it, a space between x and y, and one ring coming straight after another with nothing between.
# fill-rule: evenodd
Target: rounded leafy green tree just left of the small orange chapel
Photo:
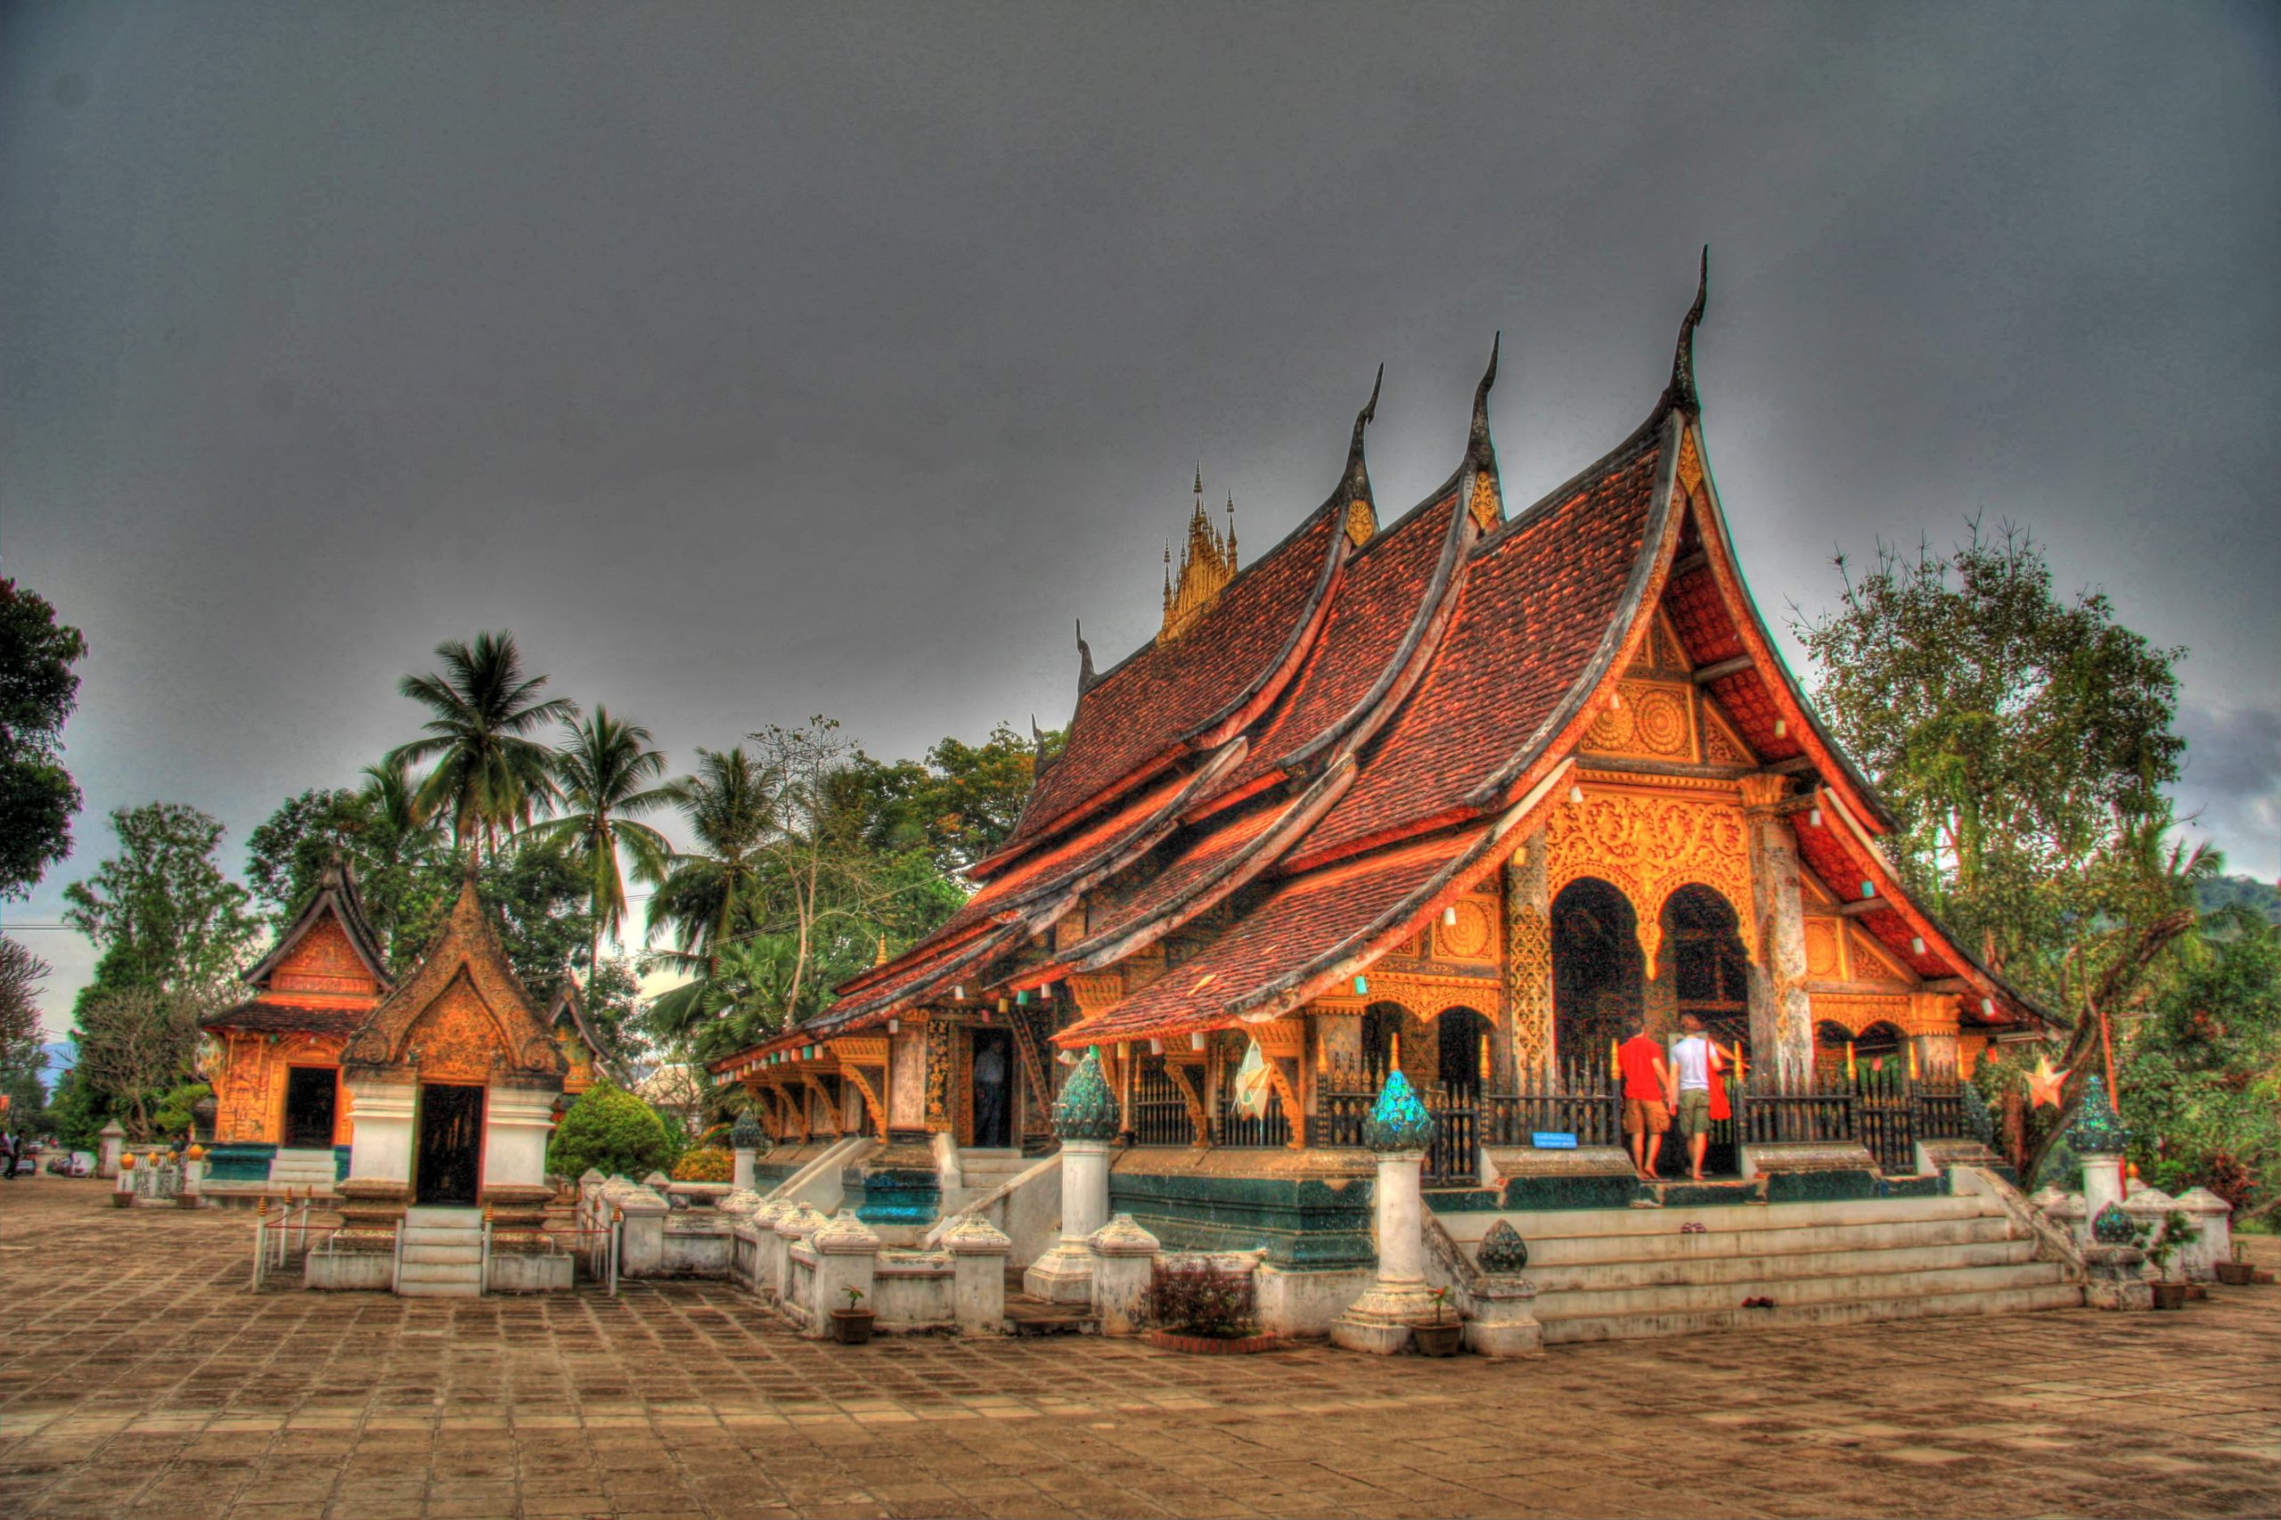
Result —
<instances>
[{"instance_id":1,"label":"rounded leafy green tree just left of the small orange chapel","mask_svg":"<svg viewBox=\"0 0 2281 1520\"><path fill-rule=\"evenodd\" d=\"M208 1002L230 993L260 920L214 863L221 824L180 803L144 803L114 810L112 828L119 854L64 888L64 922L100 949L89 993L157 988Z\"/></svg>"}]
</instances>

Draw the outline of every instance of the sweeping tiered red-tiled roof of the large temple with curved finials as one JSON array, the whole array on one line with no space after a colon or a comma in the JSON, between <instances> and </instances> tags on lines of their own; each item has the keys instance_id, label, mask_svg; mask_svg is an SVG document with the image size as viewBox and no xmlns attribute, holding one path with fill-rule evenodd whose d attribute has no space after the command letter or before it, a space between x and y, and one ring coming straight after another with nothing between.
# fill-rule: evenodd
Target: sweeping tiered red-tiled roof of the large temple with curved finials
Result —
<instances>
[{"instance_id":1,"label":"sweeping tiered red-tiled roof of the large temple with curved finials","mask_svg":"<svg viewBox=\"0 0 2281 1520\"><path fill-rule=\"evenodd\" d=\"M1168 593L1166 630L1111 671L1095 676L1081 648L1068 744L974 867L976 897L830 1011L725 1066L1099 972L1175 931L1161 972L1127 975L1122 997L1054 1038L1277 1018L1496 870L1567 794L1620 676L1663 648L1731 728L1722 774L1800 787L1786 806L1802 860L1838 902L1875 899L1850 915L1953 993L1966 1027L2037 1018L1907 902L1877 844L1891 815L1750 600L1704 456L1702 313L1699 288L1640 427L1512 516L1487 420L1494 351L1458 470L1385 527L1364 463L1373 388L1339 486L1282 543L1213 598L1186 598L1177 625Z\"/></svg>"}]
</instances>

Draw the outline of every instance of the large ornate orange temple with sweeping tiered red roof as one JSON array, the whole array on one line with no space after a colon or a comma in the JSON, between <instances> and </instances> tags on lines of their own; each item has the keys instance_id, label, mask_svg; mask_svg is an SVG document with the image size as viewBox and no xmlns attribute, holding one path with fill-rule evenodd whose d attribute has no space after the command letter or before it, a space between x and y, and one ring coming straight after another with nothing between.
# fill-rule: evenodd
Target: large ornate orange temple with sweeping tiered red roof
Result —
<instances>
[{"instance_id":1,"label":"large ornate orange temple with sweeping tiered red roof","mask_svg":"<svg viewBox=\"0 0 2281 1520\"><path fill-rule=\"evenodd\" d=\"M2041 1016L1911 902L1893 817L1775 650L1711 472L1704 304L1642 422L1535 502L1499 475L1499 345L1407 511L1371 484L1375 386L1330 493L1250 564L1198 477L1161 630L1104 671L1079 641L1068 742L974 897L712 1066L780 1173L833 1153L862 1219L953 1219L1068 1155L1086 1057L1111 1207L1264 1253L1261 1312L1316 1333L1380 1260L1396 1075L1462 1253L1638 1205L1953 1207L1943 1157L1987 1159L1957 1077ZM1736 1057L1699 1189L1640 1180L1610 1073L1635 1022L1683 1016ZM1957 1283L1953 1312L2057 1301Z\"/></svg>"}]
</instances>

